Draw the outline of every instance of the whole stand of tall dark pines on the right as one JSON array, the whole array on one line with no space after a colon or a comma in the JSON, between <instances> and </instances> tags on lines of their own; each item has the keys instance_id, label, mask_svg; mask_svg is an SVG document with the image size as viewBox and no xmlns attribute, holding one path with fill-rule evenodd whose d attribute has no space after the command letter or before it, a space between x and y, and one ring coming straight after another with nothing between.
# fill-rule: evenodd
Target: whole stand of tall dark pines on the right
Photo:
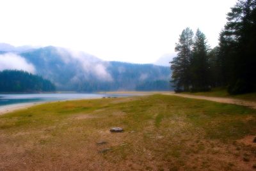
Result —
<instances>
[{"instance_id":1,"label":"whole stand of tall dark pines on the right","mask_svg":"<svg viewBox=\"0 0 256 171\"><path fill-rule=\"evenodd\" d=\"M182 31L171 62L175 91L227 87L230 94L256 91L256 0L239 0L227 14L218 46L209 48L199 29Z\"/></svg>"}]
</instances>

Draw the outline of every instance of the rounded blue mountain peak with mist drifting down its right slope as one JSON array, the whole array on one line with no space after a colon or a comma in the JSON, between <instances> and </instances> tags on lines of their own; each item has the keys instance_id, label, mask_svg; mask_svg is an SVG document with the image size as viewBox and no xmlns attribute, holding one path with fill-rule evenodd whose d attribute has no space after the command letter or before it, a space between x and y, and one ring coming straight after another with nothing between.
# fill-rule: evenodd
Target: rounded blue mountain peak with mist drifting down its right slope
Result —
<instances>
[{"instance_id":1,"label":"rounded blue mountain peak with mist drifting down its right slope","mask_svg":"<svg viewBox=\"0 0 256 171\"><path fill-rule=\"evenodd\" d=\"M54 82L59 90L90 91L87 82L108 82L107 62L84 52L60 47L44 47L21 53L36 73Z\"/></svg>"}]
</instances>

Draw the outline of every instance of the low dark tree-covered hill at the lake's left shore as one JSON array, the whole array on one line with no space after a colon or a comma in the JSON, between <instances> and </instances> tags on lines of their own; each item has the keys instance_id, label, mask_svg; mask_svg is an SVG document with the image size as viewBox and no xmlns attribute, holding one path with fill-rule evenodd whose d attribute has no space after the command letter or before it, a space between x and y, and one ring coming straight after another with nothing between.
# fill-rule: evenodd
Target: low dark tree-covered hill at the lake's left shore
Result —
<instances>
[{"instance_id":1,"label":"low dark tree-covered hill at the lake's left shore","mask_svg":"<svg viewBox=\"0 0 256 171\"><path fill-rule=\"evenodd\" d=\"M1 93L35 93L55 91L55 85L49 80L26 71L0 71Z\"/></svg>"}]
</instances>

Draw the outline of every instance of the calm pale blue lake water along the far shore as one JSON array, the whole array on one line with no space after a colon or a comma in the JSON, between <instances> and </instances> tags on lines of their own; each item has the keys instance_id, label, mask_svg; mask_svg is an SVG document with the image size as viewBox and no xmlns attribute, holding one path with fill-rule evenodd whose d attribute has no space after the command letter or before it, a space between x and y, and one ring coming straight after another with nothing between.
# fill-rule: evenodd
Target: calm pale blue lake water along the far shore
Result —
<instances>
[{"instance_id":1,"label":"calm pale blue lake water along the far shore","mask_svg":"<svg viewBox=\"0 0 256 171\"><path fill-rule=\"evenodd\" d=\"M85 93L52 93L52 94L0 94L0 107L19 103L41 101L59 101L74 99L90 99L103 97L125 97L129 94L85 94Z\"/></svg>"}]
</instances>

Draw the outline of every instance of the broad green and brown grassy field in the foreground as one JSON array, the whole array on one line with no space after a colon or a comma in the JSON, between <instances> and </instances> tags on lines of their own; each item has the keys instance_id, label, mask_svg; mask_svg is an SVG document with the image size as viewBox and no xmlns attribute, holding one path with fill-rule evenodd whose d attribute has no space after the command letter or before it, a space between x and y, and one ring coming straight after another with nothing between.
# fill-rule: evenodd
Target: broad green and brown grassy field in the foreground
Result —
<instances>
[{"instance_id":1,"label":"broad green and brown grassy field in the foreground","mask_svg":"<svg viewBox=\"0 0 256 171\"><path fill-rule=\"evenodd\" d=\"M255 135L256 110L205 100L45 103L0 116L0 170L255 170Z\"/></svg>"}]
</instances>

